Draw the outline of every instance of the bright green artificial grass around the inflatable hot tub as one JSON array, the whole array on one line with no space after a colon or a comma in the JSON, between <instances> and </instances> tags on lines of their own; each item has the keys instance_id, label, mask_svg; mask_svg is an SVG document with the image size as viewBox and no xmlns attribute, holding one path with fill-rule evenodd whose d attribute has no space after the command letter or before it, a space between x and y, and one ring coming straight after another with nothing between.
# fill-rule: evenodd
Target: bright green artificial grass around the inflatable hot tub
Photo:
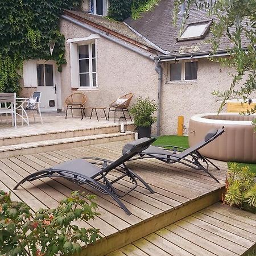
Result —
<instances>
[{"instance_id":1,"label":"bright green artificial grass around the inflatable hot tub","mask_svg":"<svg viewBox=\"0 0 256 256\"><path fill-rule=\"evenodd\" d=\"M155 146L158 145L172 145L172 146L179 146L179 147L184 147L188 148L188 137L187 136L175 136L175 135L170 135L170 136L160 136L157 138L157 140L153 143ZM228 166L232 162L228 162ZM251 163L238 163L241 166L249 166L251 172L253 172L256 175L256 164L251 164Z\"/></svg>"}]
</instances>

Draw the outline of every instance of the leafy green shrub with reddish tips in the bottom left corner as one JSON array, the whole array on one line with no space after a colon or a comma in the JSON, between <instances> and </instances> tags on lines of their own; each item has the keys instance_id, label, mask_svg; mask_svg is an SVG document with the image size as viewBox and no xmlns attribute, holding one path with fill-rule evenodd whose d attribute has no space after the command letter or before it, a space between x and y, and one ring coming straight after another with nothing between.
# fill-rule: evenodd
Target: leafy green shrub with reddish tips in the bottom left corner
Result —
<instances>
[{"instance_id":1,"label":"leafy green shrub with reddish tips in the bottom left corner","mask_svg":"<svg viewBox=\"0 0 256 256\"><path fill-rule=\"evenodd\" d=\"M79 228L75 221L88 221L98 215L94 195L71 193L56 209L32 213L26 203L12 201L0 191L0 255L51 256L81 251L100 238L98 229Z\"/></svg>"}]
</instances>

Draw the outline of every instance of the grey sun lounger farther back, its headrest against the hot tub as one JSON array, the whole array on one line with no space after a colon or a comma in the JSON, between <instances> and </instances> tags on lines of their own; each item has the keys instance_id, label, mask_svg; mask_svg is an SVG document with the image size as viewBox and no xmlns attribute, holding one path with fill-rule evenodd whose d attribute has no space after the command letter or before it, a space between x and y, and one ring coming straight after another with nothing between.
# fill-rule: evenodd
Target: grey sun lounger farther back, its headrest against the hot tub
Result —
<instances>
[{"instance_id":1,"label":"grey sun lounger farther back, its headrest against the hot tub","mask_svg":"<svg viewBox=\"0 0 256 256\"><path fill-rule=\"evenodd\" d=\"M224 127L220 129L212 129L208 131L203 141L187 149L182 147L170 146L170 145L169 146L167 145L150 146L146 148L146 150L143 150L141 153L137 154L137 156L135 156L133 159L130 159L130 161L141 159L141 158L156 158L168 164L181 163L193 169L203 170L207 172L208 175L210 175L214 180L216 180L219 183L220 181L218 181L216 177L210 174L210 172L208 171L208 168L209 168L209 164L212 164L212 166L214 166L217 170L220 170L220 168L218 168L209 159L201 155L199 153L199 150L201 147L204 147L208 143L212 142L222 133L224 133ZM129 147L132 147L132 146L133 146L133 143L126 144L123 147L123 152L129 150ZM204 167L200 161L202 163L205 163L206 167Z\"/></svg>"}]
</instances>

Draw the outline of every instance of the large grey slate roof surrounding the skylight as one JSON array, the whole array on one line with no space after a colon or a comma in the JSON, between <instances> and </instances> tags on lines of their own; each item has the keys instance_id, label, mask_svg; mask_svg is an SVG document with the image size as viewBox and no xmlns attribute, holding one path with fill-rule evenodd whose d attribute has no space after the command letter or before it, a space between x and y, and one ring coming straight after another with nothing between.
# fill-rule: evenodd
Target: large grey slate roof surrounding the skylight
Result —
<instances>
[{"instance_id":1,"label":"large grey slate roof surrounding the skylight","mask_svg":"<svg viewBox=\"0 0 256 256\"><path fill-rule=\"evenodd\" d=\"M178 14L177 27L175 28L172 24L173 10L174 0L162 0L154 10L143 13L141 18L137 20L128 18L125 22L156 46L169 51L170 55L210 51L211 44L205 43L205 40L210 39L210 32L204 39L176 41L179 36L183 14ZM189 13L187 24L211 19L214 19L214 16L208 16L207 10L197 10L195 7ZM246 43L245 39L243 43ZM227 49L228 47L232 47L229 45L229 40L222 38L219 49Z\"/></svg>"}]
</instances>

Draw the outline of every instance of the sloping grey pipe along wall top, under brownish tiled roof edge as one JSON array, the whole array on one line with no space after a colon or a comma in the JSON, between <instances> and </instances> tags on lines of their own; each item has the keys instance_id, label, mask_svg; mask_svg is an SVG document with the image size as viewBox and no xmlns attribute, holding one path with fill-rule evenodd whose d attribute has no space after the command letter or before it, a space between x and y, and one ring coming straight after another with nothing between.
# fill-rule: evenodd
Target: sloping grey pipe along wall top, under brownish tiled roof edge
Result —
<instances>
[{"instance_id":1,"label":"sloping grey pipe along wall top, under brownish tiled roof edge","mask_svg":"<svg viewBox=\"0 0 256 256\"><path fill-rule=\"evenodd\" d=\"M136 49L136 48L130 46L129 44L127 44L127 43L123 43L123 42L119 41L118 39L115 39L114 37L111 37L111 36L105 34L104 32L102 32L100 30L97 30L96 28L88 26L87 24L81 23L81 22L79 22L79 21L77 21L75 19L72 19L72 18L70 18L68 16L65 16L65 15L61 15L61 18L65 19L65 20L68 20L69 22L72 22L72 23L76 24L77 26L85 28L86 30L89 30L90 32L96 33L96 34L102 36L102 38L106 38L106 39L108 39L108 40L110 40L110 41L112 41L114 43L117 43L117 44L119 44L119 45L121 45L121 46L123 46L123 47L125 47L127 49L130 49L130 51L136 52L139 55L147 57L150 60L154 60L154 57L152 55L150 55L150 54L148 54L146 52L142 52L139 49Z\"/></svg>"}]
</instances>

